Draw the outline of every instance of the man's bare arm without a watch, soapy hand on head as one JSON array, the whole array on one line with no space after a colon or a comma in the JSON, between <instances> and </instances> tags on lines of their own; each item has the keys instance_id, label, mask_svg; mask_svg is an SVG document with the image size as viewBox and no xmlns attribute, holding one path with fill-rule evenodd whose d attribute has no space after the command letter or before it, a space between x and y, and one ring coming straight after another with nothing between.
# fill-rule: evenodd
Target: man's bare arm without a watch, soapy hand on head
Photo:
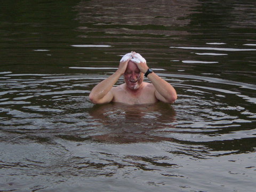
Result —
<instances>
[{"instance_id":1,"label":"man's bare arm without a watch, soapy hand on head","mask_svg":"<svg viewBox=\"0 0 256 192\"><path fill-rule=\"evenodd\" d=\"M126 56L126 57L125 57ZM125 55L120 63L119 67L114 74L100 82L98 85L94 86L89 98L93 103L109 103L113 100L114 94L111 92L112 87L118 81L118 79L124 74L127 67L127 63L131 59L129 55Z\"/></svg>"}]
</instances>

